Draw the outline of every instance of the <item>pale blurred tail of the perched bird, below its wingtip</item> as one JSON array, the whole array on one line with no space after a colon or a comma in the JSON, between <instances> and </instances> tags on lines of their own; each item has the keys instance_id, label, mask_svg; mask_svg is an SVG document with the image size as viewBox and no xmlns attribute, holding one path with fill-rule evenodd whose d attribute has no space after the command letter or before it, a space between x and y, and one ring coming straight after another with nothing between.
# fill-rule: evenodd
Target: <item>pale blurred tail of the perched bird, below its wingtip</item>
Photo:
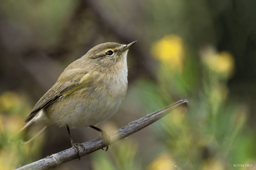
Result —
<instances>
[{"instance_id":1,"label":"pale blurred tail of the perched bird, below its wingtip","mask_svg":"<svg viewBox=\"0 0 256 170\"><path fill-rule=\"evenodd\" d=\"M47 126L51 125L51 121L46 116L43 110L40 110L37 115L31 119L26 125L15 135L11 136L8 140L11 142L23 141L28 143L44 131Z\"/></svg>"}]
</instances>

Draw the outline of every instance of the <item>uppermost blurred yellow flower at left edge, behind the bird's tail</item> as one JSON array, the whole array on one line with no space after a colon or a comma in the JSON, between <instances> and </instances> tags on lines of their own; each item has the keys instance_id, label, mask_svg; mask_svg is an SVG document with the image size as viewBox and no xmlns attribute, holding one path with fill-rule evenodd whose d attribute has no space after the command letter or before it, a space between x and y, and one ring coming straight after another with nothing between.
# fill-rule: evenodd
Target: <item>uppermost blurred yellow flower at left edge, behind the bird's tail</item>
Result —
<instances>
[{"instance_id":1,"label":"uppermost blurred yellow flower at left edge, behind the bird's tail","mask_svg":"<svg viewBox=\"0 0 256 170\"><path fill-rule=\"evenodd\" d=\"M15 92L4 92L0 96L0 111L6 111L19 103L19 97Z\"/></svg>"}]
</instances>

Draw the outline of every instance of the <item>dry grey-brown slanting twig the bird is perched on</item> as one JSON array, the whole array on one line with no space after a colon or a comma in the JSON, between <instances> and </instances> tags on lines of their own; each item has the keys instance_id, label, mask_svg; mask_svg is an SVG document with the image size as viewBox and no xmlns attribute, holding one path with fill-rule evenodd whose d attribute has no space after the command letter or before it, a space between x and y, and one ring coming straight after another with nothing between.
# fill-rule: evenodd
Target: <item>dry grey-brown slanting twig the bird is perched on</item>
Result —
<instances>
[{"instance_id":1,"label":"dry grey-brown slanting twig the bird is perched on","mask_svg":"<svg viewBox=\"0 0 256 170\"><path fill-rule=\"evenodd\" d=\"M152 123L161 119L163 116L167 115L170 111L172 111L177 106L181 104L187 104L187 103L188 103L187 100L180 100L174 104L171 104L159 111L151 113L150 115L144 116L143 118L133 121L129 123L129 125L110 133L109 137L110 137L111 144L151 125ZM94 151L97 151L103 147L106 147L101 137L84 142L82 144L85 147L85 151L83 151L83 149L79 150L81 157L88 155ZM76 150L74 148L69 148L59 153L52 154L44 159L22 166L16 170L25 170L25 169L26 170L32 170L32 169L46 170L49 168L54 168L57 165L63 164L65 162L74 160L76 158L77 158Z\"/></svg>"}]
</instances>

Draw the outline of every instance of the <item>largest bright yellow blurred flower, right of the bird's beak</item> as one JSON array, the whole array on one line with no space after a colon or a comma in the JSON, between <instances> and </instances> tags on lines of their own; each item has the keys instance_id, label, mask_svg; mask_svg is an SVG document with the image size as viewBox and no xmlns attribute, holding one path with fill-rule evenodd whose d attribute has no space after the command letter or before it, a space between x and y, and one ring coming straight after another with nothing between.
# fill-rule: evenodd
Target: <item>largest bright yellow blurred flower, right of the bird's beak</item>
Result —
<instances>
[{"instance_id":1,"label":"largest bright yellow blurred flower, right of the bird's beak","mask_svg":"<svg viewBox=\"0 0 256 170\"><path fill-rule=\"evenodd\" d=\"M167 62L171 69L179 71L183 68L184 51L184 42L177 35L164 36L152 46L154 57L162 62Z\"/></svg>"}]
</instances>

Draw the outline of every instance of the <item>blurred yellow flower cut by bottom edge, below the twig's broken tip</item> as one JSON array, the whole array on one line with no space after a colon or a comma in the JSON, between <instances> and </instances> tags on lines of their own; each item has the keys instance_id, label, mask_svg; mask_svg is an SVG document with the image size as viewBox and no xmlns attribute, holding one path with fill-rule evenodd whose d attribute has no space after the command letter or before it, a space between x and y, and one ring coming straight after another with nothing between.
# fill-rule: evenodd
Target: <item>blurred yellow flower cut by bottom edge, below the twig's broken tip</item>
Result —
<instances>
[{"instance_id":1,"label":"blurred yellow flower cut by bottom edge, below the twig's broken tip","mask_svg":"<svg viewBox=\"0 0 256 170\"><path fill-rule=\"evenodd\" d=\"M167 153L161 153L148 167L148 170L173 170L176 165L173 164L171 157Z\"/></svg>"}]
</instances>

